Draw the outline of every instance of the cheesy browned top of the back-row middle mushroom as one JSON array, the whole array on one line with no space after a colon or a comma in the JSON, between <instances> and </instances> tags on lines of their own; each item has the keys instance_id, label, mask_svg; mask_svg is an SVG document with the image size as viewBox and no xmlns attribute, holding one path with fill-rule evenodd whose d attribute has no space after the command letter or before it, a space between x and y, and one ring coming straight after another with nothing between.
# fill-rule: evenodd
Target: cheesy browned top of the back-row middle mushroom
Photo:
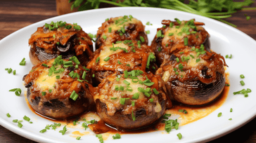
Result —
<instances>
[{"instance_id":1,"label":"cheesy browned top of the back-row middle mushroom","mask_svg":"<svg viewBox=\"0 0 256 143\"><path fill-rule=\"evenodd\" d=\"M102 44L108 45L124 40L141 41L141 44L148 44L145 26L132 15L106 20L98 28L96 37L96 48L100 48Z\"/></svg>"}]
</instances>

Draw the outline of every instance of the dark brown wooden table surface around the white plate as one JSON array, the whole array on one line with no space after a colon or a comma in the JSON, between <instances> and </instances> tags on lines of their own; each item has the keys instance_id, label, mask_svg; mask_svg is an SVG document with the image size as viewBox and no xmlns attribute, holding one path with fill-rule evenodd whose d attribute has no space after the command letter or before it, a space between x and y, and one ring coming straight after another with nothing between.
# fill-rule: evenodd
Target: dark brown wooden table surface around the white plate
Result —
<instances>
[{"instance_id":1,"label":"dark brown wooden table surface around the white plate","mask_svg":"<svg viewBox=\"0 0 256 143\"><path fill-rule=\"evenodd\" d=\"M252 4L251 7L256 7ZM250 20L245 19L245 14L250 16ZM8 34L18 29L39 22L47 18L57 16L55 0L0 0L0 40ZM239 11L233 14L226 21L237 25L237 29L248 34L252 39L256 40L256 10ZM211 141L215 142L256 142L256 118L249 123L243 125L224 137L220 137ZM0 142L34 142L20 135L7 130L0 125Z\"/></svg>"}]
</instances>

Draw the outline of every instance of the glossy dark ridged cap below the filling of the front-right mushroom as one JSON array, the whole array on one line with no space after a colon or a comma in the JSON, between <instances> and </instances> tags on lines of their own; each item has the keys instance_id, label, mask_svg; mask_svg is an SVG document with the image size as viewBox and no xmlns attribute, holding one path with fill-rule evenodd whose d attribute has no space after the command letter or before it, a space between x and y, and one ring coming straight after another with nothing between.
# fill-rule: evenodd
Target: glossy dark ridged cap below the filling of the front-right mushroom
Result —
<instances>
[{"instance_id":1,"label":"glossy dark ridged cap below the filling of the front-right mushroom","mask_svg":"<svg viewBox=\"0 0 256 143\"><path fill-rule=\"evenodd\" d=\"M217 81L206 84L201 81L174 80L165 84L172 100L188 105L200 106L209 104L222 95L225 77L217 72Z\"/></svg>"}]
</instances>

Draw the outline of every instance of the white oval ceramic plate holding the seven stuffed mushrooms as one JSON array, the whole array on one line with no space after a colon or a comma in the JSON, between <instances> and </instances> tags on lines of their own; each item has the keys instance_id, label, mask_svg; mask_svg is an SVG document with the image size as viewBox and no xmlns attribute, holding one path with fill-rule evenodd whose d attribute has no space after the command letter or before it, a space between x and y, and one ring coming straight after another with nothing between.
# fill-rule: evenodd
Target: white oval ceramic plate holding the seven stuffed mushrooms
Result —
<instances>
[{"instance_id":1,"label":"white oval ceramic plate holding the seven stuffed mushrooms","mask_svg":"<svg viewBox=\"0 0 256 143\"><path fill-rule=\"evenodd\" d=\"M256 96L254 81L256 81L256 74L254 73L256 67L256 41L250 38L250 36L243 32L230 27L229 25L205 18L199 15L193 15L191 13L184 13L180 11L172 11L162 8L103 8L92 11L84 11L79 13L71 13L68 15L61 15L56 18L50 18L41 22L37 22L33 25L25 27L23 29L6 36L6 38L0 41L0 124L8 130L11 130L18 135L27 137L37 142L99 142L94 133L84 135L80 140L76 140L72 137L72 128L68 128L68 132L65 135L61 135L57 130L47 130L44 133L39 131L44 129L47 124L52 124L52 121L46 120L34 114L25 102L23 87L23 75L27 74L32 64L28 56L29 46L28 39L30 35L37 30L37 27L43 26L45 23L51 21L65 21L65 22L77 22L78 25L84 29L84 32L96 34L98 27L105 21L106 18L117 17L120 15L133 15L143 22L151 22L153 25L146 25L146 30L150 30L151 34L148 34L149 41L153 40L156 29L162 27L162 20L190 20L196 18L198 22L205 23L205 29L210 33L210 41L212 50L222 55L232 54L232 59L226 59L226 63L229 65L227 69L230 73L230 90L226 102L215 110L209 116L201 118L198 121L181 126L179 130L172 130L169 134L163 134L162 131L148 132L143 134L134 135L122 135L122 139L113 140L112 136L104 137L104 142L206 142L227 133L236 130L241 127L256 115ZM151 44L151 42L149 43ZM19 62L26 58L26 66L20 66ZM16 75L8 74L5 68L16 69ZM245 86L241 86L239 81L240 74L245 75ZM20 97L15 96L14 93L8 92L12 88L21 88L23 90ZM250 88L252 93L249 93L249 97L243 97L243 95L233 95L234 91L241 90L243 88ZM229 112L229 109L233 108L233 112ZM217 117L217 114L222 112L221 117ZM6 114L11 114L11 118L8 118ZM18 128L17 123L13 123L13 119L23 119L23 116L29 116L32 124L23 120L23 128ZM229 121L229 118L233 118ZM77 129L75 129L77 130ZM80 130L83 132L84 130ZM87 129L89 131L89 129ZM182 139L179 140L177 134L181 132Z\"/></svg>"}]
</instances>

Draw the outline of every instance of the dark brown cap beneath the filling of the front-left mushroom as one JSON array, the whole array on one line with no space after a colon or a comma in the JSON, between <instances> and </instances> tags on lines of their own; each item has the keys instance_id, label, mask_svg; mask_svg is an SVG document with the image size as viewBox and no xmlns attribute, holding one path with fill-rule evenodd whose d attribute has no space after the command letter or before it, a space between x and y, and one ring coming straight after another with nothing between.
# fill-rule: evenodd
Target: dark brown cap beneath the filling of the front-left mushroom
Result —
<instances>
[{"instance_id":1,"label":"dark brown cap beneath the filling of the front-left mushroom","mask_svg":"<svg viewBox=\"0 0 256 143\"><path fill-rule=\"evenodd\" d=\"M67 97L65 99L54 99L46 102L40 102L40 97L31 98L31 88L27 88L27 101L34 111L37 111L43 116L48 116L54 119L72 118L83 114L85 111L90 111L95 105L91 100L91 95L87 92L80 92L77 100L72 100ZM65 103L65 104L64 104ZM39 104L42 104L39 106Z\"/></svg>"}]
</instances>

